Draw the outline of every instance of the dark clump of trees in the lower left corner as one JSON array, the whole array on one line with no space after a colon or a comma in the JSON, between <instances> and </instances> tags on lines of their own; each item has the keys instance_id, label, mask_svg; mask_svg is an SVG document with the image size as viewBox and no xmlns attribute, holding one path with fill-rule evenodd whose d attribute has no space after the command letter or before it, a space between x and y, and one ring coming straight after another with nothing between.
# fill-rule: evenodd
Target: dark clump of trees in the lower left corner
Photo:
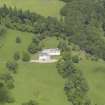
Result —
<instances>
[{"instance_id":1,"label":"dark clump of trees in the lower left corner","mask_svg":"<svg viewBox=\"0 0 105 105\"><path fill-rule=\"evenodd\" d=\"M0 105L13 103L11 89L14 88L14 78L10 73L0 75Z\"/></svg>"}]
</instances>

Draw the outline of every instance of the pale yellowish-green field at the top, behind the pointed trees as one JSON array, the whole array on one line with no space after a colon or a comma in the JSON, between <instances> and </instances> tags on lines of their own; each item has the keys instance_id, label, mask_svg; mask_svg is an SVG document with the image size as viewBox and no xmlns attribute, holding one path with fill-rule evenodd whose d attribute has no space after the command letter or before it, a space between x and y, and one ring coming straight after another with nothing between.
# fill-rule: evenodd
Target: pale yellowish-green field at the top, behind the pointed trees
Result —
<instances>
[{"instance_id":1,"label":"pale yellowish-green field at the top, behind the pointed trees","mask_svg":"<svg viewBox=\"0 0 105 105\"><path fill-rule=\"evenodd\" d=\"M44 16L59 17L59 11L64 5L59 0L0 0L0 5L17 7L23 10L31 10Z\"/></svg>"}]
</instances>

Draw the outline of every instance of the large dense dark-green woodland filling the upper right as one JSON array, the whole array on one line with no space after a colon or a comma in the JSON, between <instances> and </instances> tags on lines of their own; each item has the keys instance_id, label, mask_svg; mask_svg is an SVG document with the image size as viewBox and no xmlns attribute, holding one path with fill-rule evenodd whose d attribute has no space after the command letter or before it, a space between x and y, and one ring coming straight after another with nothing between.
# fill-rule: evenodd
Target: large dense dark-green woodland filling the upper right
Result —
<instances>
[{"instance_id":1,"label":"large dense dark-green woodland filling the upper right","mask_svg":"<svg viewBox=\"0 0 105 105\"><path fill-rule=\"evenodd\" d=\"M65 32L82 50L105 60L105 1L61 0Z\"/></svg>"}]
</instances>

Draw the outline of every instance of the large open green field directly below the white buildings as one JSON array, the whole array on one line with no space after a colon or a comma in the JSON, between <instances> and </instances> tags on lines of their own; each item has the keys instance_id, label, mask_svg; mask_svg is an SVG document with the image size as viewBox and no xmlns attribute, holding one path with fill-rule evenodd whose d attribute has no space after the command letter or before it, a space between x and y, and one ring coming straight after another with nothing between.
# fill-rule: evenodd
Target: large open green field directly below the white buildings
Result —
<instances>
[{"instance_id":1,"label":"large open green field directly below the white buildings","mask_svg":"<svg viewBox=\"0 0 105 105\"><path fill-rule=\"evenodd\" d=\"M13 96L16 103L33 99L40 105L67 105L63 91L64 81L57 73L55 64L21 64L15 76Z\"/></svg>"}]
</instances>

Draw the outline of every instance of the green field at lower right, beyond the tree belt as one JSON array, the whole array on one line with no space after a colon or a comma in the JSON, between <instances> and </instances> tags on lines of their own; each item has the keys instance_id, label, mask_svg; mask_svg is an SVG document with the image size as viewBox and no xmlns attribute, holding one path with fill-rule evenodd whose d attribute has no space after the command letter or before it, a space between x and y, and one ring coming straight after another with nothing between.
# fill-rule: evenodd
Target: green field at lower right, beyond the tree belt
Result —
<instances>
[{"instance_id":1,"label":"green field at lower right, beyond the tree belt","mask_svg":"<svg viewBox=\"0 0 105 105\"><path fill-rule=\"evenodd\" d=\"M105 62L83 60L78 65L88 81L89 96L93 104L104 105L105 103Z\"/></svg>"}]
</instances>

